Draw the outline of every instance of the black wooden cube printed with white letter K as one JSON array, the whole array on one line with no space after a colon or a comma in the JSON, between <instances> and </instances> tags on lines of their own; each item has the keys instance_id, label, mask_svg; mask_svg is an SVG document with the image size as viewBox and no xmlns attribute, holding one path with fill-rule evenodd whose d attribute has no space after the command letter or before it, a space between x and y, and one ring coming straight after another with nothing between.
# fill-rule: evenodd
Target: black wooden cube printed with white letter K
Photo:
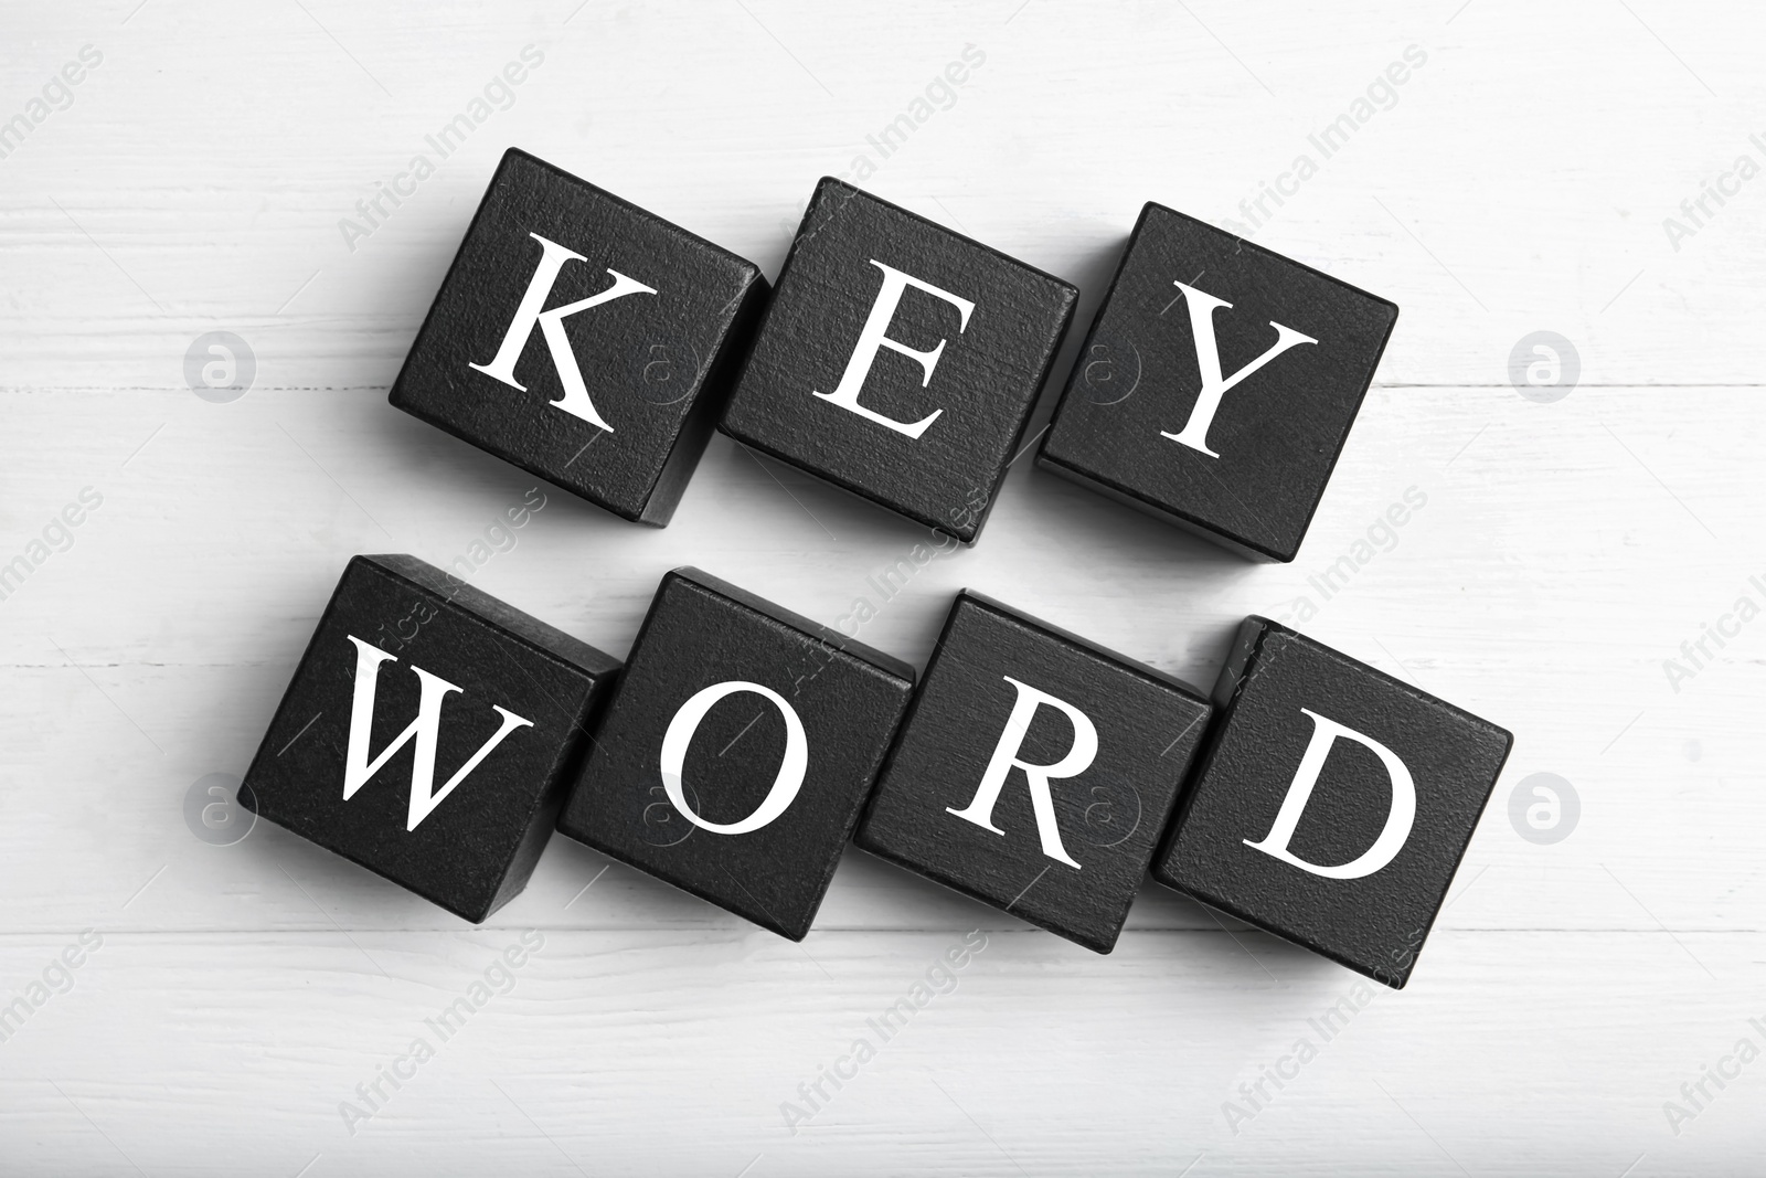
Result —
<instances>
[{"instance_id":1,"label":"black wooden cube printed with white letter K","mask_svg":"<svg viewBox=\"0 0 1766 1178\"><path fill-rule=\"evenodd\" d=\"M540 265L532 233L579 260L558 268L542 309L615 286L627 293L562 320L599 417L553 404L560 371L539 325L514 366L494 367ZM510 148L392 385L394 406L625 519L666 525L728 399L766 298L759 268L567 171Z\"/></svg>"}]
</instances>

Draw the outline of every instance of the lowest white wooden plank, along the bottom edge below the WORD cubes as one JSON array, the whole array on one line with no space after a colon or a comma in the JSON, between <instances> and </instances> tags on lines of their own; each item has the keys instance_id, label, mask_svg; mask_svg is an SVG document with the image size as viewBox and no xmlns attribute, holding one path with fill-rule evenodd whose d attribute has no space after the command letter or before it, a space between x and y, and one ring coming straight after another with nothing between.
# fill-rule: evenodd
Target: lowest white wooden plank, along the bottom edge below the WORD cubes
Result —
<instances>
[{"instance_id":1,"label":"lowest white wooden plank, along the bottom edge below the WORD cubes","mask_svg":"<svg viewBox=\"0 0 1766 1178\"><path fill-rule=\"evenodd\" d=\"M1745 934L1683 938L1713 982L1665 938L1457 933L1436 947L1452 970L1404 993L1261 938L1250 954L1220 933L1130 933L1097 957L964 934L553 931L512 970L494 966L514 929L108 934L0 1051L9 1160L1171 1174L1201 1155L1192 1173L1432 1174L1621 1173L1642 1153L1637 1173L1697 1173L1755 1139L1747 1070L1678 1139L1660 1107L1701 1061L1761 1040ZM9 957L64 940L9 938ZM934 970L952 947L966 963ZM355 1091L417 1038L433 1058L401 1063L399 1090ZM1250 1109L1238 1086L1302 1038L1316 1054L1229 1125L1222 1106ZM826 1100L798 1093L837 1063ZM786 1102L807 1114L796 1134Z\"/></svg>"}]
</instances>

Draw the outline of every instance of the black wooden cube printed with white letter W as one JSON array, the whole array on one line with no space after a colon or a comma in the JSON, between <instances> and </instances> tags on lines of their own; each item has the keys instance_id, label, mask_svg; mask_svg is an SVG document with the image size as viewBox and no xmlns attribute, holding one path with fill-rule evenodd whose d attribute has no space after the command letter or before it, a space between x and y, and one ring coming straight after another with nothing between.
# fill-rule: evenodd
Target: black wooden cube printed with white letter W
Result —
<instances>
[{"instance_id":1,"label":"black wooden cube printed with white letter W","mask_svg":"<svg viewBox=\"0 0 1766 1178\"><path fill-rule=\"evenodd\" d=\"M350 636L392 655L376 680L369 763L419 715L413 666L461 689L442 701L436 791L500 729L496 705L532 722L415 830L406 828L415 740L343 797L357 678ZM275 708L240 802L480 922L526 887L586 744L585 724L618 669L616 659L415 556L357 556Z\"/></svg>"}]
</instances>

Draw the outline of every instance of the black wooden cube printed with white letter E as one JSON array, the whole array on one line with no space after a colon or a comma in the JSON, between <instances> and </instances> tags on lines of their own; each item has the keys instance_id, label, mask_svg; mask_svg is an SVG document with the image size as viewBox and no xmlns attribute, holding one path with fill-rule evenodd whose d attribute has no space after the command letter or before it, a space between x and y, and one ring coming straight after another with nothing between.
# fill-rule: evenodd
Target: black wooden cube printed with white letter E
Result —
<instances>
[{"instance_id":1,"label":"black wooden cube printed with white letter E","mask_svg":"<svg viewBox=\"0 0 1766 1178\"><path fill-rule=\"evenodd\" d=\"M927 380L883 348L860 404L904 436L816 392L839 389L885 283L883 263L975 304L908 288L887 332L917 351L945 341ZM839 180L823 178L791 242L721 429L962 542L980 533L1072 320L1077 290Z\"/></svg>"}]
</instances>

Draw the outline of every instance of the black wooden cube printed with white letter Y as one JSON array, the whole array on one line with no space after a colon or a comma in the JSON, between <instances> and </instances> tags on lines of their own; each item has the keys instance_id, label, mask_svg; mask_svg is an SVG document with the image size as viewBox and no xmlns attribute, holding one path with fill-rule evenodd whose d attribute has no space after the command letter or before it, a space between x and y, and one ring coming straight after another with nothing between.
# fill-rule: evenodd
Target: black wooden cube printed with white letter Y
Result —
<instances>
[{"instance_id":1,"label":"black wooden cube printed with white letter Y","mask_svg":"<svg viewBox=\"0 0 1766 1178\"><path fill-rule=\"evenodd\" d=\"M1204 445L1174 442L1203 389L1183 283L1233 304L1222 378L1312 337L1220 397ZM1293 560L1362 408L1397 306L1148 203L1067 380L1037 463L1256 560Z\"/></svg>"}]
</instances>

